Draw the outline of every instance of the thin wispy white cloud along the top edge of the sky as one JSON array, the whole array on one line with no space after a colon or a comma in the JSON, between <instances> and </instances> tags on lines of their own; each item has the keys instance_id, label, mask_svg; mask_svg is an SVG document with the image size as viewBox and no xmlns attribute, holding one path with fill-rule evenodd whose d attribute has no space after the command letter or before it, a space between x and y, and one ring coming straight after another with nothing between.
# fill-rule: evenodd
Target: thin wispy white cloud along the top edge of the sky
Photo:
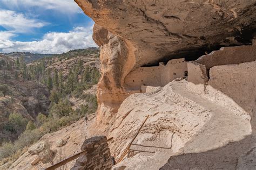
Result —
<instances>
[{"instance_id":1,"label":"thin wispy white cloud along the top edge of the sky","mask_svg":"<svg viewBox=\"0 0 256 170\"><path fill-rule=\"evenodd\" d=\"M81 11L73 0L1 0L1 3L11 9L39 7L57 10L62 13L77 13Z\"/></svg>"}]
</instances>

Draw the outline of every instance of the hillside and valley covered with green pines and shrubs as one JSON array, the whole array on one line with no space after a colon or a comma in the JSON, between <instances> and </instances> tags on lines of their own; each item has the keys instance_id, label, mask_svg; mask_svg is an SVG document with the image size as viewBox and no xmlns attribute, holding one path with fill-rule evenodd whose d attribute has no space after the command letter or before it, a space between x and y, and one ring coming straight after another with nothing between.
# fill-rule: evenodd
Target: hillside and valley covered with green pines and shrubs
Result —
<instances>
[{"instance_id":1,"label":"hillside and valley covered with green pines and shrubs","mask_svg":"<svg viewBox=\"0 0 256 170\"><path fill-rule=\"evenodd\" d=\"M97 100L90 89L99 77L98 48L30 63L1 55L0 159L15 159L43 134L95 112Z\"/></svg>"}]
</instances>

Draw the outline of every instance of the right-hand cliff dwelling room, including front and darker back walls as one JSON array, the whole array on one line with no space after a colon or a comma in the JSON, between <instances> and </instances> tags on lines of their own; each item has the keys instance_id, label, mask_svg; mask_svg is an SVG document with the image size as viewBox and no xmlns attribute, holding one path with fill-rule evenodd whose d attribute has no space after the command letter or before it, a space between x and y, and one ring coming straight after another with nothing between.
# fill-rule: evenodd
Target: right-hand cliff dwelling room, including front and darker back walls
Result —
<instances>
[{"instance_id":1,"label":"right-hand cliff dwelling room, including front and darker back walls","mask_svg":"<svg viewBox=\"0 0 256 170\"><path fill-rule=\"evenodd\" d=\"M188 88L197 94L214 90L229 96L252 114L255 94L256 47L223 47L187 63Z\"/></svg>"}]
</instances>

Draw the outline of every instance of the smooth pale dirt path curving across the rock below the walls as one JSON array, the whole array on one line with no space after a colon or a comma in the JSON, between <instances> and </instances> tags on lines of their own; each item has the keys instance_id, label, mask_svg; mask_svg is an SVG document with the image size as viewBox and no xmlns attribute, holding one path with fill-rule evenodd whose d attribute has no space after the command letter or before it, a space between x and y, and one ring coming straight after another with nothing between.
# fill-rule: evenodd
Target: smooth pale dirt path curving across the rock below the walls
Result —
<instances>
[{"instance_id":1,"label":"smooth pale dirt path curving across the rock below the walls","mask_svg":"<svg viewBox=\"0 0 256 170\"><path fill-rule=\"evenodd\" d=\"M173 83L172 88L176 93L211 111L212 117L204 128L186 144L185 152L212 150L231 141L239 141L251 134L251 125L248 120L200 95L187 91L186 84L186 81L179 81Z\"/></svg>"}]
</instances>

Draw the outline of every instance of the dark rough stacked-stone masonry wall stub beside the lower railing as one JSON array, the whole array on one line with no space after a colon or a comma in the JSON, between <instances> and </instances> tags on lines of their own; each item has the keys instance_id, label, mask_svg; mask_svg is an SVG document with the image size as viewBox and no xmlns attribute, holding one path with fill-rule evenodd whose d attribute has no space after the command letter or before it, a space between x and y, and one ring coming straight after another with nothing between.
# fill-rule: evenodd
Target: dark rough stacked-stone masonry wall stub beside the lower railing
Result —
<instances>
[{"instance_id":1,"label":"dark rough stacked-stone masonry wall stub beside the lower railing","mask_svg":"<svg viewBox=\"0 0 256 170\"><path fill-rule=\"evenodd\" d=\"M105 136L86 139L81 150L87 150L87 153L76 160L76 164L72 170L111 169L112 159Z\"/></svg>"}]
</instances>

